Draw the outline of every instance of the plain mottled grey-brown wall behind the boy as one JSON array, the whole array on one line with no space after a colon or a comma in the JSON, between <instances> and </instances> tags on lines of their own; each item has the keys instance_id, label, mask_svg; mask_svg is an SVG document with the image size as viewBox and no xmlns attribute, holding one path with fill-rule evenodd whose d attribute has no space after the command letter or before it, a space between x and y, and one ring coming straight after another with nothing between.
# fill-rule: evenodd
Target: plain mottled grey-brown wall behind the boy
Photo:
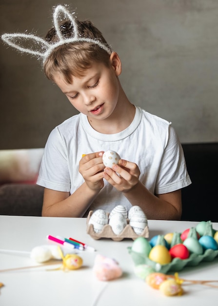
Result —
<instances>
[{"instance_id":1,"label":"plain mottled grey-brown wall behind the boy","mask_svg":"<svg viewBox=\"0 0 218 306\"><path fill-rule=\"evenodd\" d=\"M1 34L44 36L59 3L92 20L119 53L133 104L172 121L182 143L218 141L217 0L1 0ZM0 43L0 149L44 147L75 113L36 59Z\"/></svg>"}]
</instances>

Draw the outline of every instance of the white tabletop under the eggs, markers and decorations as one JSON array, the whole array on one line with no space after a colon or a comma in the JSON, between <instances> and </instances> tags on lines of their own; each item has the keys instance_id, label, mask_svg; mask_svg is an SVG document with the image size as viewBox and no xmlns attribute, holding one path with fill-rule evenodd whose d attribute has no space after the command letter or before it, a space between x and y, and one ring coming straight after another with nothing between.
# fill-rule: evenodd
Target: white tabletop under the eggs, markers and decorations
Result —
<instances>
[{"instance_id":1,"label":"white tabletop under the eggs, markers and decorations","mask_svg":"<svg viewBox=\"0 0 218 306\"><path fill-rule=\"evenodd\" d=\"M149 239L158 234L196 226L198 222L148 220ZM218 223L213 223L218 230ZM134 263L127 247L133 240L94 240L86 234L86 219L0 216L0 249L31 251L35 246L54 244L46 236L73 237L96 248L96 252L79 251L83 267L64 272L49 271L50 265L0 273L0 306L205 306L218 305L218 288L185 285L185 294L166 297L149 287L134 274ZM69 252L68 252L69 253ZM97 254L116 259L123 276L100 282L93 273ZM0 252L0 269L32 266L37 263L29 255ZM179 276L190 280L218 280L218 258L185 267ZM218 285L218 283L217 283Z\"/></svg>"}]
</instances>

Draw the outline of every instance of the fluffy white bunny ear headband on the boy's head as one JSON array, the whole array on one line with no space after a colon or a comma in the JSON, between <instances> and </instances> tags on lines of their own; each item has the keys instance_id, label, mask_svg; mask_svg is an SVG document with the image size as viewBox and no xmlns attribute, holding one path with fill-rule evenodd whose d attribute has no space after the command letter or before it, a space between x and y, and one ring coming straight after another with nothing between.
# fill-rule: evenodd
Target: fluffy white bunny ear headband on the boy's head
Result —
<instances>
[{"instance_id":1,"label":"fluffy white bunny ear headband on the boy's head","mask_svg":"<svg viewBox=\"0 0 218 306\"><path fill-rule=\"evenodd\" d=\"M59 28L59 21L61 14L64 16L64 19L68 19L71 21L74 36L71 38L66 38L61 34ZM46 58L51 54L51 52L62 44L70 44L76 42L87 42L91 44L96 44L103 50L105 50L109 55L112 53L112 50L105 44L101 43L98 38L91 39L86 37L80 37L78 26L76 22L76 18L73 14L71 14L66 7L62 5L58 5L55 7L54 14L53 14L53 22L56 33L59 37L59 42L50 44L45 39L40 38L34 34L25 34L25 33L11 33L11 34L3 34L1 39L8 45L18 49L20 52L25 52L31 54L33 56L39 56L43 63ZM25 46L29 42L30 46Z\"/></svg>"}]
</instances>

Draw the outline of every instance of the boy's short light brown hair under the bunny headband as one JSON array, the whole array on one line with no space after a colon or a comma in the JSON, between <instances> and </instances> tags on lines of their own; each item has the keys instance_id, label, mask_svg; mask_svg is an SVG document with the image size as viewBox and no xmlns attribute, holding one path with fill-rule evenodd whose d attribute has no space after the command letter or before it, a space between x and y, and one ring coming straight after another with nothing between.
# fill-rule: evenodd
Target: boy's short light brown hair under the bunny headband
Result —
<instances>
[{"instance_id":1,"label":"boy's short light brown hair under the bunny headband","mask_svg":"<svg viewBox=\"0 0 218 306\"><path fill-rule=\"evenodd\" d=\"M79 36L84 38L98 39L109 49L110 46L102 36L101 32L90 21L77 21ZM74 36L74 29L70 21L59 24L60 31L65 38ZM52 27L46 40L49 43L58 42L59 38L55 27ZM112 51L111 51L112 52ZM99 45L87 42L75 42L62 44L56 47L44 62L44 72L49 80L54 81L57 73L60 73L67 83L72 83L72 76L83 76L84 71L93 63L103 63L109 66L110 55Z\"/></svg>"}]
</instances>

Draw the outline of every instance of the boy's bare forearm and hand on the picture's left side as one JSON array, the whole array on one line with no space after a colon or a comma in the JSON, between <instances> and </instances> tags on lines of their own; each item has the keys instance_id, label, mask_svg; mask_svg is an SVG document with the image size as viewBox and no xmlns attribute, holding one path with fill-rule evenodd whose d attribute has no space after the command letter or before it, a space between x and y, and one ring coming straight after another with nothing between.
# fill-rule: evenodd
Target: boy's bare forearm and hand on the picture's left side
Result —
<instances>
[{"instance_id":1,"label":"boy's bare forearm and hand on the picture's left side","mask_svg":"<svg viewBox=\"0 0 218 306\"><path fill-rule=\"evenodd\" d=\"M43 217L83 217L104 186L102 154L90 153L81 158L79 172L84 183L72 195L45 188Z\"/></svg>"}]
</instances>

